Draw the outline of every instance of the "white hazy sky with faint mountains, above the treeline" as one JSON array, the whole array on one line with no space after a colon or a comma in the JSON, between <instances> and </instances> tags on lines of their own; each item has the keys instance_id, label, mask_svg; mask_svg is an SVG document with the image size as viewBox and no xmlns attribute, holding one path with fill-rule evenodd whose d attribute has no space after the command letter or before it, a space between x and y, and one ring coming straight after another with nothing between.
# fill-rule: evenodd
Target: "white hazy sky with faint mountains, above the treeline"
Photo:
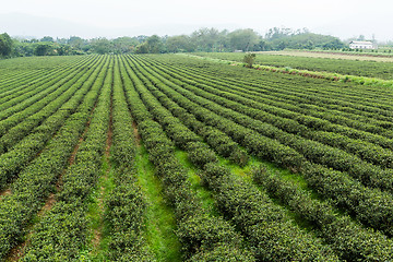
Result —
<instances>
[{"instance_id":1,"label":"white hazy sky with faint mountains, above the treeline","mask_svg":"<svg viewBox=\"0 0 393 262\"><path fill-rule=\"evenodd\" d=\"M393 40L392 0L9 0L0 33L43 37L190 34L200 27L307 27L341 38Z\"/></svg>"}]
</instances>

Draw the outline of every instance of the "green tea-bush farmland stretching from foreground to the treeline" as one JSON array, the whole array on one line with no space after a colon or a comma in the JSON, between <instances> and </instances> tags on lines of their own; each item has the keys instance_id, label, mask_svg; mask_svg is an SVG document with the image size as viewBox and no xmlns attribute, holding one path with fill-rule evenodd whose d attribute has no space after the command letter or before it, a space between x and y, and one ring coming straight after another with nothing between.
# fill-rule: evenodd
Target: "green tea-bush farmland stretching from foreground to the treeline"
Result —
<instances>
[{"instance_id":1,"label":"green tea-bush farmland stretching from foreground to the treeline","mask_svg":"<svg viewBox=\"0 0 393 262\"><path fill-rule=\"evenodd\" d=\"M392 88L179 55L21 58L0 74L4 261L393 260Z\"/></svg>"}]
</instances>

